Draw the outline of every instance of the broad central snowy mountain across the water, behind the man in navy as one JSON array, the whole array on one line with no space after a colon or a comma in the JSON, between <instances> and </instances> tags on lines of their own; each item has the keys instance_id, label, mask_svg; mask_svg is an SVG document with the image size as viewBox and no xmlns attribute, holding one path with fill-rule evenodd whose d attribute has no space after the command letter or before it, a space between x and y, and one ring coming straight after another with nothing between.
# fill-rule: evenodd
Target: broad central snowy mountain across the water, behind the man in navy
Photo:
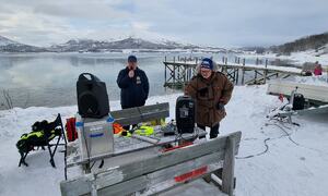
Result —
<instances>
[{"instance_id":1,"label":"broad central snowy mountain across the water, behind the man in navy","mask_svg":"<svg viewBox=\"0 0 328 196\"><path fill-rule=\"evenodd\" d=\"M114 41L99 41L92 39L71 39L61 45L54 45L50 50L54 51L115 51L122 49L147 49L147 50L162 50L162 49L195 49L199 48L195 45L183 45L175 41L150 41L141 38L126 38Z\"/></svg>"}]
</instances>

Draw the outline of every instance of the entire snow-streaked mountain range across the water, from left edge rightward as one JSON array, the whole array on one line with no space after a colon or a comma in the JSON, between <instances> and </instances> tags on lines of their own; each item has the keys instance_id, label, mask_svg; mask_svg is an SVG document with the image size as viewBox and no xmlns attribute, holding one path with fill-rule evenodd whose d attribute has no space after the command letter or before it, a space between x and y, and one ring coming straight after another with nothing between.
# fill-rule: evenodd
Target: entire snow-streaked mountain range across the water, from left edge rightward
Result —
<instances>
[{"instance_id":1,"label":"entire snow-streaked mountain range across the water, from left edge rightward","mask_svg":"<svg viewBox=\"0 0 328 196\"><path fill-rule=\"evenodd\" d=\"M122 52L124 50L136 50L140 52L156 52L163 50L191 50L192 52L229 52L224 48L200 47L191 44L181 44L167 39L145 40L128 37L120 40L93 40L93 39L70 39L65 44L52 45L48 48L40 48L20 44L0 36L0 52Z\"/></svg>"}]
</instances>

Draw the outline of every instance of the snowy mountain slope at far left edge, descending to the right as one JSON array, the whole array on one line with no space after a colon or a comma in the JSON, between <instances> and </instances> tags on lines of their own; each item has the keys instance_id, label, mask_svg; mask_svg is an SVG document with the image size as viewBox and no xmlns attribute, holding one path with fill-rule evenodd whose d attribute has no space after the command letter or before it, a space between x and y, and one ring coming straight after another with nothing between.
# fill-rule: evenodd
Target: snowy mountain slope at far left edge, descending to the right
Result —
<instances>
[{"instance_id":1,"label":"snowy mountain slope at far left edge, descending to the right","mask_svg":"<svg viewBox=\"0 0 328 196\"><path fill-rule=\"evenodd\" d=\"M42 52L45 48L20 44L17 41L0 36L0 52Z\"/></svg>"}]
</instances>

